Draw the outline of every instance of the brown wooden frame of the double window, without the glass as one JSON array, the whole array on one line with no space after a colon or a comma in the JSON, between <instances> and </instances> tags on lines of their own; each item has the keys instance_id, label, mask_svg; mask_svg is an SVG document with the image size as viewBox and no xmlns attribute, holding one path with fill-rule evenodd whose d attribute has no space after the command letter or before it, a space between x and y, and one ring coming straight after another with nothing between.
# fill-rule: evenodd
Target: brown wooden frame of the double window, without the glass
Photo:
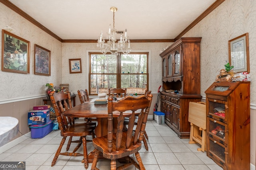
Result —
<instances>
[{"instance_id":1,"label":"brown wooden frame of the double window, without the glass","mask_svg":"<svg viewBox=\"0 0 256 170\"><path fill-rule=\"evenodd\" d=\"M102 55L102 53L100 52L95 52L95 51L91 51L91 52L88 52L88 93L89 93L89 96L97 96L98 94L91 94L91 74L99 74L99 75L102 75L102 73L92 73L91 72L91 55ZM111 55L111 53L106 53L107 55ZM116 75L116 88L121 88L121 76L122 74L130 74L130 75L145 75L147 76L147 84L146 84L146 89L149 89L149 65L150 65L150 52L149 51L139 51L139 52L130 52L129 54L138 54L138 55L141 55L141 54L145 54L147 55L147 64L146 64L146 69L147 69L147 72L143 72L143 73L122 73L121 72L121 55L118 55L117 56L117 70L116 70L116 73L114 73ZM128 55L129 55L128 54ZM108 75L108 74L112 74L113 73L103 73L104 75Z\"/></svg>"}]
</instances>

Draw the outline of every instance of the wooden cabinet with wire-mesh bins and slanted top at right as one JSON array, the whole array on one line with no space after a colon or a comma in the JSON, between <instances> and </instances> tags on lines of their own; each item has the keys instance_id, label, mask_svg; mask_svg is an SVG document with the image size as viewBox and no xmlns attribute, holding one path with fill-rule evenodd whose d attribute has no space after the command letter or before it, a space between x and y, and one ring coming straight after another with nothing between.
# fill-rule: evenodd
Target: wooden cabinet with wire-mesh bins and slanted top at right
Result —
<instances>
[{"instance_id":1,"label":"wooden cabinet with wire-mesh bins and slanted top at right","mask_svg":"<svg viewBox=\"0 0 256 170\"><path fill-rule=\"evenodd\" d=\"M214 82L205 93L207 156L224 170L250 170L250 82Z\"/></svg>"}]
</instances>

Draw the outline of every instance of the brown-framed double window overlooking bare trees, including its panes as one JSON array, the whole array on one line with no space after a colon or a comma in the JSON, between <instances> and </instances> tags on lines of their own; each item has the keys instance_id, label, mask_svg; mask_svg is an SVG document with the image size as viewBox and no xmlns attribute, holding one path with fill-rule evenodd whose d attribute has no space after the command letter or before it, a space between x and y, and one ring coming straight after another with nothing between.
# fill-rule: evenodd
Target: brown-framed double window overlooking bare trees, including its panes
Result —
<instances>
[{"instance_id":1,"label":"brown-framed double window overlooking bare trees, including its panes","mask_svg":"<svg viewBox=\"0 0 256 170\"><path fill-rule=\"evenodd\" d=\"M108 88L126 88L127 94L148 89L148 53L89 55L89 95L108 93Z\"/></svg>"}]
</instances>

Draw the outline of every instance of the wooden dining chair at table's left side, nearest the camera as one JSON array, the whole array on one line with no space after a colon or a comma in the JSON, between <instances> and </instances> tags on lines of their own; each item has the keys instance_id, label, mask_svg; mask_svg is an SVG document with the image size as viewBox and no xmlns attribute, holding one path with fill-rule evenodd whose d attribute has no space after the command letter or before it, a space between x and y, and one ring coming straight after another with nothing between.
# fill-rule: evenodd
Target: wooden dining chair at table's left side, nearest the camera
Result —
<instances>
[{"instance_id":1,"label":"wooden dining chair at table's left side, nearest the camera","mask_svg":"<svg viewBox=\"0 0 256 170\"><path fill-rule=\"evenodd\" d=\"M94 138L95 126L88 124L88 123L75 123L73 117L65 117L62 115L62 113L65 110L72 108L69 92L67 92L66 94L63 92L51 93L50 100L52 102L52 106L53 106L55 114L56 114L56 119L59 124L60 135L63 137L60 142L60 146L58 147L58 150L56 151L56 154L52 160L51 166L55 165L59 155L84 156L82 162L84 162L84 166L87 169L88 168L88 155L87 155L87 149L86 149L86 142L87 142L86 136L92 135L92 137ZM62 146L64 145L64 142L66 141L66 137L70 137L70 141L72 141L72 137L80 137L79 140L72 141L72 142L78 143L78 145L75 147L73 152L61 152ZM82 154L76 152L81 145L83 145L83 153Z\"/></svg>"}]
</instances>

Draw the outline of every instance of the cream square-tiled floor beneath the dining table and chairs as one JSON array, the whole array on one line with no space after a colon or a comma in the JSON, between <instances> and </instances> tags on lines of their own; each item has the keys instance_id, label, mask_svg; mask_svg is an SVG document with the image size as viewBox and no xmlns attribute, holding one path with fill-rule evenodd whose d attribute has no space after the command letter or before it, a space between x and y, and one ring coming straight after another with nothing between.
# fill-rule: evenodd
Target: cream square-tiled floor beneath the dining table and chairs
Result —
<instances>
[{"instance_id":1,"label":"cream square-tiled floor beneath the dining table and chairs","mask_svg":"<svg viewBox=\"0 0 256 170\"><path fill-rule=\"evenodd\" d=\"M197 151L200 145L188 144L189 139L178 138L177 134L166 124L158 125L154 121L148 121L146 132L149 137L149 150L147 151L144 145L140 150L146 170L222 170L206 156L206 152ZM55 166L51 167L61 139L59 131L51 132L42 139L28 137L25 141L0 154L0 161L25 161L26 170L84 170L80 156L60 155ZM66 145L63 148L65 149ZM88 152L94 149L92 143L87 144L87 149ZM82 147L80 151L82 152ZM110 170L109 164L108 160L99 160L98 168ZM91 164L88 170L90 168ZM132 166L128 170L136 170L136 168Z\"/></svg>"}]
</instances>

